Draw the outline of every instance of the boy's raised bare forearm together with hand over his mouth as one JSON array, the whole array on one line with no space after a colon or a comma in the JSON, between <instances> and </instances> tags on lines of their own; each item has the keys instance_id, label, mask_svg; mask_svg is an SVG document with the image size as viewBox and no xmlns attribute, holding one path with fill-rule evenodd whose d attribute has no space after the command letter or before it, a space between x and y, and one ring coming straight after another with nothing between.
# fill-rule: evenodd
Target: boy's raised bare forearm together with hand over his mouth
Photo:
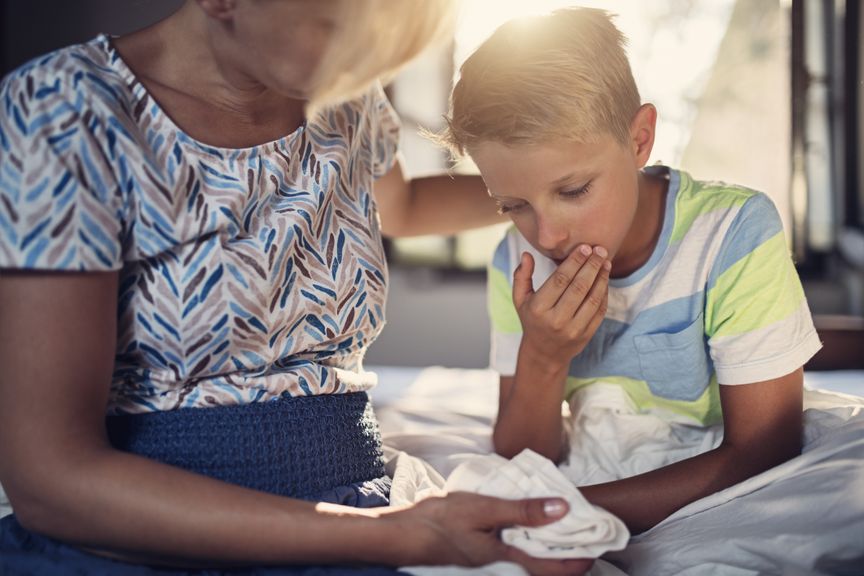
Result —
<instances>
[{"instance_id":1,"label":"boy's raised bare forearm together with hand over his mouth","mask_svg":"<svg viewBox=\"0 0 864 576\"><path fill-rule=\"evenodd\" d=\"M512 458L525 448L561 458L561 402L570 361L588 344L606 314L606 251L579 246L536 292L534 260L523 254L513 275L513 304L522 341L513 377L501 378L495 451Z\"/></svg>"}]
</instances>

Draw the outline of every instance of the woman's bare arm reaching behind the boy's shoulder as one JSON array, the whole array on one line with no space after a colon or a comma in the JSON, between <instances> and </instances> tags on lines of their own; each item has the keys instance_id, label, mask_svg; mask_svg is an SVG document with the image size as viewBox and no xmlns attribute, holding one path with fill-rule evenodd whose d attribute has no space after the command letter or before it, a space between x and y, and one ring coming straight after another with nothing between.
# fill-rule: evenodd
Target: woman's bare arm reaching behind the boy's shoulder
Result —
<instances>
[{"instance_id":1,"label":"woman's bare arm reaching behind the boy's shoulder","mask_svg":"<svg viewBox=\"0 0 864 576\"><path fill-rule=\"evenodd\" d=\"M385 236L453 234L505 221L480 176L409 180L397 161L375 181L374 194Z\"/></svg>"}]
</instances>

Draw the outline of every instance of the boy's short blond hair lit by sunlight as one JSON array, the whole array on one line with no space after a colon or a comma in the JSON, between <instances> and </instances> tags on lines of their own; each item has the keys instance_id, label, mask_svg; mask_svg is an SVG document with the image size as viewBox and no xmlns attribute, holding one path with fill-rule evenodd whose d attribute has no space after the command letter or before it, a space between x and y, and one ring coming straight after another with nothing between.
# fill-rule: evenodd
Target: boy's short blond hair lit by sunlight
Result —
<instances>
[{"instance_id":1,"label":"boy's short blond hair lit by sunlight","mask_svg":"<svg viewBox=\"0 0 864 576\"><path fill-rule=\"evenodd\" d=\"M603 10L566 8L502 25L462 65L438 140L456 156L481 142L624 143L641 104L626 39Z\"/></svg>"}]
</instances>

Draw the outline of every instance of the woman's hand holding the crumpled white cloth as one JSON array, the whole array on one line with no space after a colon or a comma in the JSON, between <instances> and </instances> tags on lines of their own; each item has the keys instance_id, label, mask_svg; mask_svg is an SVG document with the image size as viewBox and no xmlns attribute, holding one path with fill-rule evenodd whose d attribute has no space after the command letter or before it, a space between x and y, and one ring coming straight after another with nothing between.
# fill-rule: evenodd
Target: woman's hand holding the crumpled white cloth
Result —
<instances>
[{"instance_id":1,"label":"woman's hand holding the crumpled white cloth","mask_svg":"<svg viewBox=\"0 0 864 576\"><path fill-rule=\"evenodd\" d=\"M593 560L534 558L499 538L503 528L551 524L567 511L567 502L557 498L502 500L453 492L385 513L384 517L401 523L404 557L399 558L399 563L402 566L484 566L514 562L535 576L584 574Z\"/></svg>"}]
</instances>

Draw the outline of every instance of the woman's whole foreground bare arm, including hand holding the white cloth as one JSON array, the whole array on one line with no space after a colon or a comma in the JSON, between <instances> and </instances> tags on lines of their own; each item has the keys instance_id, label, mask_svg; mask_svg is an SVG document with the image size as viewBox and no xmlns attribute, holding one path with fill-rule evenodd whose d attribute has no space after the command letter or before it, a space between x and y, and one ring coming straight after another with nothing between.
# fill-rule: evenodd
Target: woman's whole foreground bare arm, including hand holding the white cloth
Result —
<instances>
[{"instance_id":1,"label":"woman's whole foreground bare arm, including hand holding the white cloth","mask_svg":"<svg viewBox=\"0 0 864 576\"><path fill-rule=\"evenodd\" d=\"M0 271L0 480L28 529L167 564L477 565L567 574L498 529L554 521L543 500L456 494L404 510L273 496L112 449L105 409L118 274ZM398 542L398 546L394 546Z\"/></svg>"}]
</instances>

